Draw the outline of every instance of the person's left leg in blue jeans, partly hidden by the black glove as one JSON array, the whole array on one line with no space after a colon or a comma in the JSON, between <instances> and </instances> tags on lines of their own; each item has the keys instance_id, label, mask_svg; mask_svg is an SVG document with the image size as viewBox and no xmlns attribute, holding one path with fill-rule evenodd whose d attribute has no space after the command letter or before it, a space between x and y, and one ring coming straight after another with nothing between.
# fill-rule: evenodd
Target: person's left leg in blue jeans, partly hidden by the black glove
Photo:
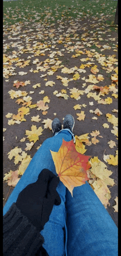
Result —
<instances>
[{"instance_id":1,"label":"person's left leg in blue jeans, partly hidden by the black glove","mask_svg":"<svg viewBox=\"0 0 121 256\"><path fill-rule=\"evenodd\" d=\"M32 158L29 166L26 168L12 194L10 194L10 197L4 206L3 215L7 213L10 206L17 201L21 190L23 190L28 184L36 182L38 175L43 168L48 168L48 170L57 175L50 149L57 152L62 145L62 139L70 141L72 140L72 135L67 130L61 130L61 132L54 135L54 137L48 138L42 143L40 149L37 150L36 154ZM47 250L47 253L50 256L62 256L65 254L63 231L63 228L66 228L65 186L61 181L58 184L57 192L61 197L61 204L59 206L53 206L50 220L45 224L44 229L41 231L41 234L45 239L43 247Z\"/></svg>"}]
</instances>

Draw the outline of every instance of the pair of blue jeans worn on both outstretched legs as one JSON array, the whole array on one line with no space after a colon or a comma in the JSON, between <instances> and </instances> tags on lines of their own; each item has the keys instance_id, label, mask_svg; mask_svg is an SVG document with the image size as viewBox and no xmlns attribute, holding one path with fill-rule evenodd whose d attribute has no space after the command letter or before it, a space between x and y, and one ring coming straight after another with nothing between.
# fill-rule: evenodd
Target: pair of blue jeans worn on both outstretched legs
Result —
<instances>
[{"instance_id":1,"label":"pair of blue jeans worn on both outstretched legs","mask_svg":"<svg viewBox=\"0 0 121 256\"><path fill-rule=\"evenodd\" d=\"M36 182L43 168L57 175L50 149L57 152L62 139L70 141L72 138L73 134L64 129L42 143L10 194L3 215L17 201L21 190ZM86 182L74 188L72 197L60 181L57 192L61 204L53 206L50 219L41 231L47 253L50 256L117 256L118 228L90 185Z\"/></svg>"}]
</instances>

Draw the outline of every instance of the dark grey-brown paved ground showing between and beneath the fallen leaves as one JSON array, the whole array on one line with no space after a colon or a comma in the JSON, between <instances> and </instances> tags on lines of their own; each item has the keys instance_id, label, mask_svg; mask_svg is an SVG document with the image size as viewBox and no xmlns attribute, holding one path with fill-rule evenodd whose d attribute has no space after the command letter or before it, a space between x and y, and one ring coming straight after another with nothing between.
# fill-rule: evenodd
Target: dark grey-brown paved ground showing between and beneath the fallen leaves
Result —
<instances>
[{"instance_id":1,"label":"dark grey-brown paved ground showing between and beneath the fallen leaves","mask_svg":"<svg viewBox=\"0 0 121 256\"><path fill-rule=\"evenodd\" d=\"M90 31L92 31L92 33ZM109 86L113 83L114 88L117 88L115 81L111 80L111 75L116 74L114 68L117 67L116 31L111 31L111 28L105 25L102 29L102 25L100 23L97 25L96 21L93 19L81 20L80 22L70 20L65 23L55 24L51 27L47 24L41 26L40 24L25 23L24 26L18 25L13 26L10 30L7 28L4 30L4 54L7 59L4 63L5 75L3 79L3 128L6 128L3 134L3 173L7 173L10 170L16 171L18 169L20 162L15 165L14 158L9 160L7 154L16 146L25 151L26 143L30 143L29 140L20 141L23 137L26 138L25 130L31 130L33 124L36 125L37 128L40 126L43 128L39 140L36 141L30 151L26 151L27 155L32 157L37 151L37 146L40 146L46 138L52 137L52 130L49 128L46 129L42 121L47 118L52 120L54 117L58 117L63 122L63 118L67 113L73 115L75 119L75 135L79 136L89 133L91 140L92 137L90 133L95 130L100 131L101 137L96 137L99 142L96 144L92 143L90 146L86 145L87 151L85 155L98 156L98 159L103 162L105 162L103 160L103 154L116 155L117 137L111 132L111 130L113 130L113 124L107 121L106 114L109 113L117 117L118 114L114 111L117 110L118 107L117 99L115 96L112 96L113 91L111 90L108 90L107 94L101 96L103 100L107 99L107 97L111 98L111 104L104 105L94 99L94 96L87 97L89 85L107 86L109 89ZM98 54L100 56L97 56ZM73 55L75 55L75 57ZM112 59L109 59L109 56L111 56ZM30 60L30 62L27 65L25 61L28 60ZM110 65L108 65L108 63L110 63ZM85 65L84 67L82 66L83 64ZM97 69L99 69L99 72L96 74L91 72L91 68L95 65ZM63 73L62 69L64 67L68 68L67 73ZM113 67L112 70L110 67ZM74 72L69 73L69 70L73 70ZM26 73L22 74L19 72ZM79 74L79 77L75 80L74 75L76 75L76 73ZM103 75L104 79L97 80L98 74ZM96 80L92 82L86 81L86 79L90 78L89 75L95 75ZM61 78L57 76L61 76ZM68 78L67 86L62 78ZM23 81L23 83L26 81L30 82L27 85L19 86L17 89L15 86L13 87L13 84L17 83L17 80ZM53 81L53 86L46 86L47 81ZM95 81L97 82L95 83ZM41 87L35 86L36 88L33 88L36 84L41 84ZM82 93L83 95L80 94L80 99L76 100L74 97L70 97L72 95L70 94L70 89L73 88L81 90L81 92L84 91L84 93ZM85 91L86 88L87 91ZM64 99L62 96L56 96L55 91L58 91L58 94L59 92L63 94L63 89L66 90L64 93L69 96L68 100ZM23 102L26 102L25 100L18 105L16 101L24 98L14 97L14 99L10 99L10 94L8 93L10 90L26 91L27 96L32 98L30 99L32 105L42 100L43 97L48 96L50 102L46 103L49 106L46 115L43 115L42 110L37 110L37 107L30 108L29 115L24 116L26 121L9 125L8 120L11 120L12 117L7 118L5 116L8 113L17 115L18 109L22 107ZM45 91L44 94L40 94L42 90ZM98 95L100 89L91 90L90 92L95 92L95 94ZM74 109L74 106L77 104L81 105L81 110ZM94 113L96 108L102 112L102 115L96 115ZM84 121L77 119L78 116L76 113L80 113L81 111L84 111L85 114ZM41 119L40 122L32 122L31 117L37 115L39 115ZM95 117L97 119L95 119ZM104 128L102 126L104 123L107 123L109 128ZM113 148L109 147L108 142L110 140L116 143L116 146ZM116 183L115 186L109 188L111 191L111 199L109 200L110 205L107 206L107 210L117 225L117 212L114 212L113 208L113 206L116 205L114 199L118 195L117 166L106 165L108 170L113 172L111 178L113 178ZM7 183L3 183L3 197L5 199L3 200L3 204L5 204L12 190L12 186L10 187Z\"/></svg>"}]
</instances>

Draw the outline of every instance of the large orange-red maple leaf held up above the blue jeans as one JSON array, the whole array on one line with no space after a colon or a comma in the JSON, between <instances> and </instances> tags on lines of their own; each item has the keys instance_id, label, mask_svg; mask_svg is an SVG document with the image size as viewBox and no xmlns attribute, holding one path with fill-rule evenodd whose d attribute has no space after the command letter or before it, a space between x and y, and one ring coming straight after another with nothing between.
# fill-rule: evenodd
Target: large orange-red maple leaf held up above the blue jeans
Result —
<instances>
[{"instance_id":1,"label":"large orange-red maple leaf held up above the blue jeans","mask_svg":"<svg viewBox=\"0 0 121 256\"><path fill-rule=\"evenodd\" d=\"M74 187L85 184L88 179L86 170L90 156L81 155L76 151L73 140L64 139L58 152L51 151L51 155L58 177L73 196Z\"/></svg>"}]
</instances>

